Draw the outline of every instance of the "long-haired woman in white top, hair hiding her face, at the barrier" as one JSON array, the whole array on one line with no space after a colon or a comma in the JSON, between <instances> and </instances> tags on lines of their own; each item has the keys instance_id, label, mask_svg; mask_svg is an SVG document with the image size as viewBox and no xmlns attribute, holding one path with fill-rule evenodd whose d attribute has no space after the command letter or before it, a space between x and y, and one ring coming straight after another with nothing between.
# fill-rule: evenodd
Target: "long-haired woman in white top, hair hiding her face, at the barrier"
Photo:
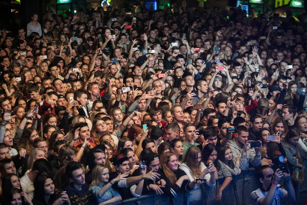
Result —
<instances>
[{"instance_id":1,"label":"long-haired woman in white top, hair hiding her face, at the barrier","mask_svg":"<svg viewBox=\"0 0 307 205\"><path fill-rule=\"evenodd\" d=\"M213 169L206 167L202 162L202 152L198 147L190 147L179 166L188 176L190 181L195 179L206 179L206 183L209 187L215 186L215 174L212 174ZM196 183L195 189L199 188L199 184Z\"/></svg>"}]
</instances>

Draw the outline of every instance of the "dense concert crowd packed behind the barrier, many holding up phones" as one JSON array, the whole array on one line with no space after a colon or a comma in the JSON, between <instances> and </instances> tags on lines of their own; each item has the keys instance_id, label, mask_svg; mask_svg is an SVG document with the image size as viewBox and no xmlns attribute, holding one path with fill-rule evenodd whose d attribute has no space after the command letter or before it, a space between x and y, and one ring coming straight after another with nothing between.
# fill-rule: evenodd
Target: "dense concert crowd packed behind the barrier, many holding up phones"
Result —
<instances>
[{"instance_id":1,"label":"dense concert crowd packed behind the barrier, many holding up phones","mask_svg":"<svg viewBox=\"0 0 307 205\"><path fill-rule=\"evenodd\" d=\"M219 202L251 167L254 204L295 202L307 156L306 13L141 1L42 19L2 29L1 204L175 197L224 177Z\"/></svg>"}]
</instances>

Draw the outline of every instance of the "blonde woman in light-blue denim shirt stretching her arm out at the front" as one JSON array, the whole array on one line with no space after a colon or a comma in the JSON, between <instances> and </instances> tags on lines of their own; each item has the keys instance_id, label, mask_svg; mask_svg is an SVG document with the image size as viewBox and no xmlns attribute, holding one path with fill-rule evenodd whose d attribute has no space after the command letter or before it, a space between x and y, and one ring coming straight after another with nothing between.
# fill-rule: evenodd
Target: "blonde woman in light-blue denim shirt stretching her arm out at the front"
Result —
<instances>
[{"instance_id":1,"label":"blonde woman in light-blue denim shirt stretching her arm out at the front","mask_svg":"<svg viewBox=\"0 0 307 205\"><path fill-rule=\"evenodd\" d=\"M121 201L122 198L120 194L112 188L114 183L124 180L128 176L128 172L124 174L119 174L116 178L109 180L109 170L103 165L96 165L93 169L93 181L91 183L91 192L93 196L97 199L98 203L113 203L116 201Z\"/></svg>"}]
</instances>

